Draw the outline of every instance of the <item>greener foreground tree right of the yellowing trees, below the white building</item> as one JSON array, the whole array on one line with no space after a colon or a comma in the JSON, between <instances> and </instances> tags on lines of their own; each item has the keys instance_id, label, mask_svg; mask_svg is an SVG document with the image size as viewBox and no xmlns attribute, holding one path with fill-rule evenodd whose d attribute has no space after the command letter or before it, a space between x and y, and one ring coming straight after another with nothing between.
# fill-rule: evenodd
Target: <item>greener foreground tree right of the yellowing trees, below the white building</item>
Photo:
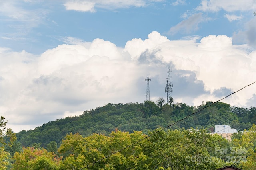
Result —
<instances>
[{"instance_id":1,"label":"greener foreground tree right of the yellowing trees, below the white building","mask_svg":"<svg viewBox=\"0 0 256 170\"><path fill-rule=\"evenodd\" d=\"M156 129L156 131L159 129ZM219 158L210 156L214 137L206 130L192 132L168 130L150 137L151 167L154 169L217 169L225 165ZM207 147L206 147L207 146Z\"/></svg>"}]
</instances>

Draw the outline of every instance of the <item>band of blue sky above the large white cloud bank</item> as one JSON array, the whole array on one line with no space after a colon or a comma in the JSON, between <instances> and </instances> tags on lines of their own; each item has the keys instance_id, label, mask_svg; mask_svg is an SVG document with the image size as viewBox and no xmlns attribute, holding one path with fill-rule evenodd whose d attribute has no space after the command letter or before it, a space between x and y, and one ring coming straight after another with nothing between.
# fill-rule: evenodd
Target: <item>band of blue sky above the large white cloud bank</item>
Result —
<instances>
[{"instance_id":1,"label":"band of blue sky above the large white cloud bank","mask_svg":"<svg viewBox=\"0 0 256 170\"><path fill-rule=\"evenodd\" d=\"M124 4L111 1L103 6L104 8L101 6L101 1L90 2L95 2L93 12L67 10L65 4L68 2L60 0L11 2L3 0L1 45L15 51L25 49L29 53L40 54L56 47L67 36L89 42L101 38L120 47L124 47L126 42L133 38L146 39L152 31L158 31L171 40L191 35L232 37L238 31L246 31L244 23L254 17L253 8L244 11L239 8L224 10L220 5L218 11L214 11L213 7L200 9L202 3L196 0L140 2L129 0L130 3ZM248 5L250 3L252 2L248 1ZM228 16L230 18L233 16L234 19L229 21Z\"/></svg>"}]
</instances>

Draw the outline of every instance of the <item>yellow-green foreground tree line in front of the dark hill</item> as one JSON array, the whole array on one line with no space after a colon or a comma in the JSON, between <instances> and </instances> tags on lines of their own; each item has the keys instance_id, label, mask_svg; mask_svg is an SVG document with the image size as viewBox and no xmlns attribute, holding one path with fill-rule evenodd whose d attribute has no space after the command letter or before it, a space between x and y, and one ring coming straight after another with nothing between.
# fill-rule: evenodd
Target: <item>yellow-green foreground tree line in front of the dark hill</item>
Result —
<instances>
[{"instance_id":1,"label":"yellow-green foreground tree line in front of the dark hill","mask_svg":"<svg viewBox=\"0 0 256 170\"><path fill-rule=\"evenodd\" d=\"M22 147L10 154L4 142L0 149L0 168L12 170L205 170L234 166L244 170L256 168L256 125L248 132L232 136L210 135L207 129L155 129L148 135L142 131L108 135L94 133L83 137L67 134L60 147L51 141ZM138 142L139 141L139 142Z\"/></svg>"}]
</instances>

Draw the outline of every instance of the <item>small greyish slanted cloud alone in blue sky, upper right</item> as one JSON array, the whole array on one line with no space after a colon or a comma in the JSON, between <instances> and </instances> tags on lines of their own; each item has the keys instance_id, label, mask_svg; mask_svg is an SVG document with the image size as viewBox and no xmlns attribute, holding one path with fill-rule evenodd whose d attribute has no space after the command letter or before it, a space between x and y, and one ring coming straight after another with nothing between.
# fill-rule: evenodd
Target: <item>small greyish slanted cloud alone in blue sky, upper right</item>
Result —
<instances>
[{"instance_id":1,"label":"small greyish slanted cloud alone in blue sky, upper right","mask_svg":"<svg viewBox=\"0 0 256 170\"><path fill-rule=\"evenodd\" d=\"M181 21L174 27L171 27L170 30L168 31L168 34L174 35L176 33L192 33L199 29L199 23L205 22L207 20L209 20L209 18L204 18L202 13L194 14L190 16L188 19Z\"/></svg>"}]
</instances>

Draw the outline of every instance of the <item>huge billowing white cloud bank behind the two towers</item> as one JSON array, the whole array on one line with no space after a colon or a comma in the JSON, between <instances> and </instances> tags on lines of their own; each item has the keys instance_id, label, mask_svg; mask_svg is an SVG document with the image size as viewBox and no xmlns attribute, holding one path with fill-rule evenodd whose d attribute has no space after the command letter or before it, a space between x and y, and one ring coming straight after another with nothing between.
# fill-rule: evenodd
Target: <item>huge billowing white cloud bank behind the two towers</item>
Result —
<instances>
[{"instance_id":1,"label":"huge billowing white cloud bank behind the two towers","mask_svg":"<svg viewBox=\"0 0 256 170\"><path fill-rule=\"evenodd\" d=\"M166 98L167 66L172 68L175 102L198 106L256 80L256 51L232 45L224 35L170 41L153 31L124 48L103 39L80 39L41 55L1 49L1 114L15 132L48 121L79 115L107 103L144 102L149 76L150 99ZM79 44L79 45L78 45ZM223 102L255 106L255 84Z\"/></svg>"}]
</instances>

